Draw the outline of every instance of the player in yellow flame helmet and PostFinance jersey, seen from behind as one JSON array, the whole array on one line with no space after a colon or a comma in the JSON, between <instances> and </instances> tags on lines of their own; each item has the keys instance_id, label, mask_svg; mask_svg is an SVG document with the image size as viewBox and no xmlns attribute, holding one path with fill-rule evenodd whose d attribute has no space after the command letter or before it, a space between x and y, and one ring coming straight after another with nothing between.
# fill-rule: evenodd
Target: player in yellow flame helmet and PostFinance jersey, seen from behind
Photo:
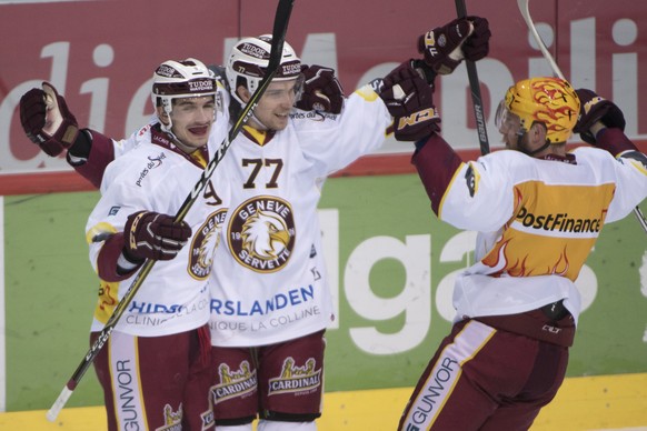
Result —
<instances>
[{"instance_id":1,"label":"player in yellow flame helmet and PostFinance jersey, seen from behind","mask_svg":"<svg viewBox=\"0 0 647 431\"><path fill-rule=\"evenodd\" d=\"M647 157L613 102L558 78L509 88L497 111L507 150L476 161L440 137L438 118L415 130L401 120L396 138L416 142L434 212L479 233L476 263L457 275L451 333L398 429L528 430L566 373L580 312L575 280L603 227L645 200ZM597 148L567 152L574 129Z\"/></svg>"}]
</instances>

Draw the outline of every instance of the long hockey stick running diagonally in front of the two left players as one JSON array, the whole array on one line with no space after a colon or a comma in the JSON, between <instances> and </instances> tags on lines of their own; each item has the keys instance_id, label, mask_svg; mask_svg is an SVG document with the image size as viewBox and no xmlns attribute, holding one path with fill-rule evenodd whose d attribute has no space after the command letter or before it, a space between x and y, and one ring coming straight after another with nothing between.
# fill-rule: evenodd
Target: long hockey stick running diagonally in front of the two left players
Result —
<instances>
[{"instance_id":1,"label":"long hockey stick running diagonally in front of the two left players","mask_svg":"<svg viewBox=\"0 0 647 431\"><path fill-rule=\"evenodd\" d=\"M282 57L283 42L286 40L288 22L290 20L290 13L292 11L293 3L295 0L279 0L277 12L275 16L270 58L267 67L267 73L259 83L258 89L251 96L249 102L240 112L236 122L231 126L231 129L229 130L227 138L222 141L220 148L218 149L211 161L209 161L209 163L205 168L205 171L202 172L200 179L198 180L198 182L196 183L196 186L193 187L193 189L191 190L191 192L189 193L189 196L178 210L175 217L176 221L182 221L185 219L189 209L193 206L198 196L201 193L202 189L205 189L205 187L207 186L207 182L211 178L216 167L220 163L220 161L225 157L225 153L231 146L233 139L238 136L238 133L242 129L242 126L251 117L253 109L257 107L260 98L262 97L268 86L270 84L272 78L277 73ZM66 387L54 401L54 403L52 404L52 407L47 412L47 419L49 421L53 422L57 419L60 411L62 410L62 408L68 402L70 395L79 384L81 378L83 377L86 371L90 368L90 365L99 354L101 348L103 348L103 345L108 341L110 333L119 322L119 319L126 311L126 308L128 307L128 304L130 303L130 301L132 300L132 298L143 283L143 280L150 273L155 262L156 262L155 260L150 259L147 260L139 270L135 280L132 280L132 283L128 288L126 294L115 308L115 311L110 315L110 319L108 319L108 321L103 325L103 329L101 330L96 341L90 347L90 350L88 350L86 357L83 358L83 360L81 361L81 363L79 364L79 367L77 368L77 370L74 371L74 373L72 374L72 377L70 378L70 380L68 381L68 383L66 384Z\"/></svg>"}]
</instances>

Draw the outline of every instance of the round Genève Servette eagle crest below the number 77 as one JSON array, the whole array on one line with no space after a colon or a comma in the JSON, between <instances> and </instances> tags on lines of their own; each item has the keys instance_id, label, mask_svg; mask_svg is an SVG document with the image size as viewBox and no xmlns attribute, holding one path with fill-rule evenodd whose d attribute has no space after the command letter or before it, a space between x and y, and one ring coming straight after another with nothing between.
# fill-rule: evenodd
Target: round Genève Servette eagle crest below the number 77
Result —
<instances>
[{"instance_id":1,"label":"round Gen\u00e8ve Servette eagle crest below the number 77","mask_svg":"<svg viewBox=\"0 0 647 431\"><path fill-rule=\"evenodd\" d=\"M229 221L229 249L236 260L257 272L283 268L295 247L295 220L289 203L255 197L240 204Z\"/></svg>"}]
</instances>

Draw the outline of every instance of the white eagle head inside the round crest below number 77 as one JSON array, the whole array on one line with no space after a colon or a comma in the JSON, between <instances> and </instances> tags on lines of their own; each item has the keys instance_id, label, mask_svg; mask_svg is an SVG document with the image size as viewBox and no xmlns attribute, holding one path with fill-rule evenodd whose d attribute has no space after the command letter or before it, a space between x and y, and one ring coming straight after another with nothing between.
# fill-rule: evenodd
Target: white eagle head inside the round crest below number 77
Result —
<instances>
[{"instance_id":1,"label":"white eagle head inside the round crest below number 77","mask_svg":"<svg viewBox=\"0 0 647 431\"><path fill-rule=\"evenodd\" d=\"M276 259L290 241L283 220L262 210L245 222L240 233L242 248L261 259Z\"/></svg>"}]
</instances>

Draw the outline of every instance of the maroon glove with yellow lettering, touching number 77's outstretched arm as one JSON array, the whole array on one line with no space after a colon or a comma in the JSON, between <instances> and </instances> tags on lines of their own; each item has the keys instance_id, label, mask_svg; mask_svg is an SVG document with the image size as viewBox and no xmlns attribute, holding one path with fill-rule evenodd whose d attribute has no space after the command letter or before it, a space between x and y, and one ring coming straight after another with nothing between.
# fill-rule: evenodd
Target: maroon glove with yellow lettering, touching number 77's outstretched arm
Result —
<instances>
[{"instance_id":1,"label":"maroon glove with yellow lettering, touching number 77's outstretched arm","mask_svg":"<svg viewBox=\"0 0 647 431\"><path fill-rule=\"evenodd\" d=\"M405 61L382 80L380 98L394 117L398 141L418 141L439 131L440 117L434 106L434 88Z\"/></svg>"}]
</instances>

